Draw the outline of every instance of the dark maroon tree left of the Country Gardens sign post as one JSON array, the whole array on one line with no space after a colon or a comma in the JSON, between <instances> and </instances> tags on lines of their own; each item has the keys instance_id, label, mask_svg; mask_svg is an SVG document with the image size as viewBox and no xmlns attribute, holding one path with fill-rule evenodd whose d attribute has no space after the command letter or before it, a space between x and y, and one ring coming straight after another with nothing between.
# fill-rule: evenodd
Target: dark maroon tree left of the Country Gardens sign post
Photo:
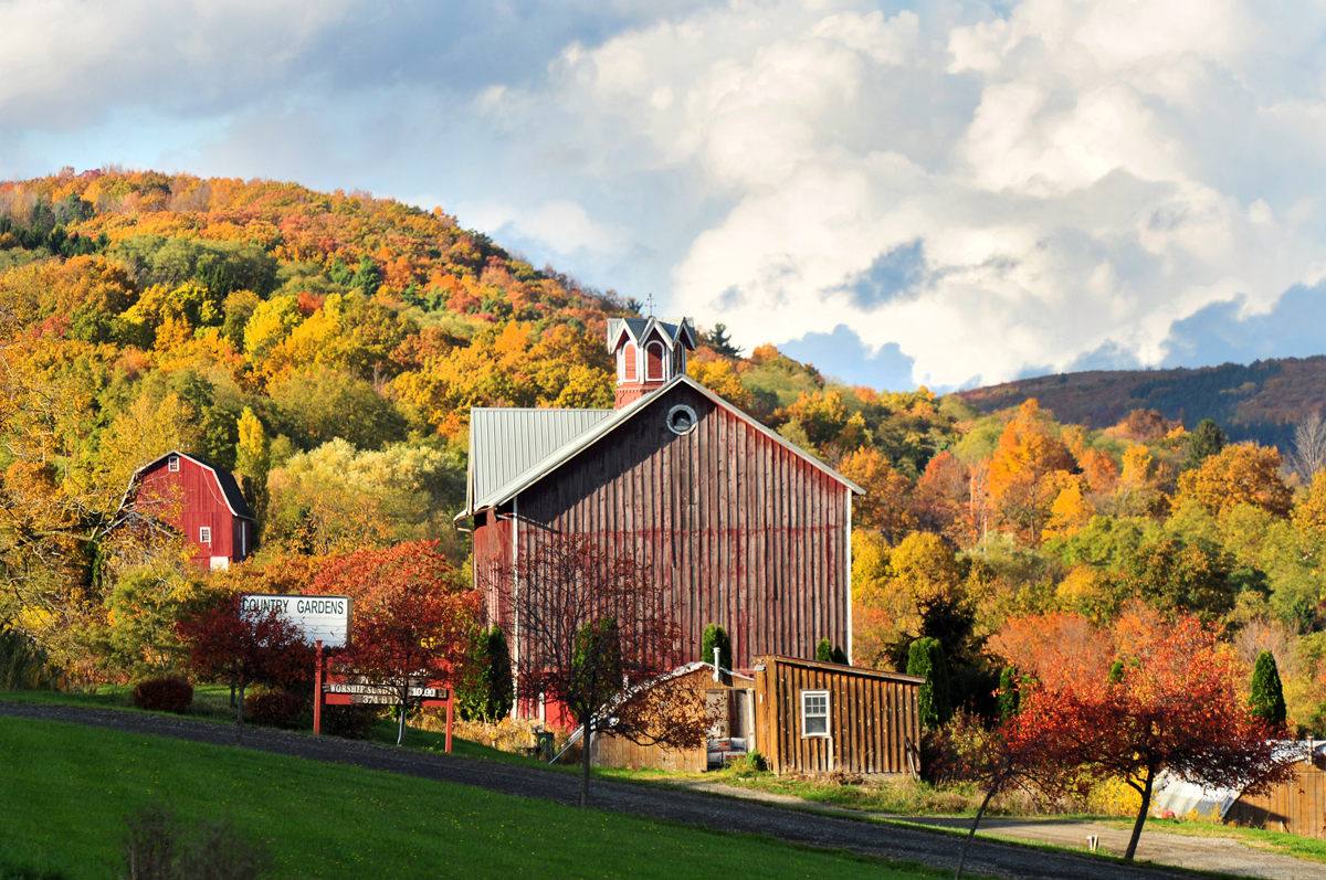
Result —
<instances>
[{"instance_id":1,"label":"dark maroon tree left of the Country Gardens sign post","mask_svg":"<svg viewBox=\"0 0 1326 880\"><path fill-rule=\"evenodd\" d=\"M240 610L240 594L232 594L212 610L179 622L180 639L188 645L188 665L202 679L231 683L236 737L244 729L244 690L257 683L284 683L308 675L312 648L293 623L276 607Z\"/></svg>"}]
</instances>

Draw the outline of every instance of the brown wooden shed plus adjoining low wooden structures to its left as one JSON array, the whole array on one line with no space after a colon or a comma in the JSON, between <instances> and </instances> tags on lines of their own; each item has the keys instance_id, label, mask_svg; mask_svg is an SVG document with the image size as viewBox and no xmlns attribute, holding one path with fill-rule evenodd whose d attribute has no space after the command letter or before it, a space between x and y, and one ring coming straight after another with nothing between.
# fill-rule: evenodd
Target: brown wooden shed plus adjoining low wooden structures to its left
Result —
<instances>
[{"instance_id":1,"label":"brown wooden shed plus adjoining low wooden structures to its left","mask_svg":"<svg viewBox=\"0 0 1326 880\"><path fill-rule=\"evenodd\" d=\"M753 677L703 663L679 672L704 690L715 718L707 747L664 749L599 736L595 766L700 773L758 751L776 774L920 773L924 679L780 656L758 657Z\"/></svg>"}]
</instances>

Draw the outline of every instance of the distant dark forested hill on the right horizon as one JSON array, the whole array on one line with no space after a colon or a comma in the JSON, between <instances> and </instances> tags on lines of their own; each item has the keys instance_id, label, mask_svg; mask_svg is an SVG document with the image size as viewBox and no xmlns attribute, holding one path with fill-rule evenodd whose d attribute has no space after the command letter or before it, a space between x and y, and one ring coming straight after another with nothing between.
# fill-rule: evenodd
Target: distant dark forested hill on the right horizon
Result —
<instances>
[{"instance_id":1,"label":"distant dark forested hill on the right horizon","mask_svg":"<svg viewBox=\"0 0 1326 880\"><path fill-rule=\"evenodd\" d=\"M1213 419L1233 440L1289 449L1294 425L1326 408L1326 357L1223 363L1196 370L1093 370L960 391L983 412L1036 398L1063 423L1107 428L1132 410L1158 410L1192 428Z\"/></svg>"}]
</instances>

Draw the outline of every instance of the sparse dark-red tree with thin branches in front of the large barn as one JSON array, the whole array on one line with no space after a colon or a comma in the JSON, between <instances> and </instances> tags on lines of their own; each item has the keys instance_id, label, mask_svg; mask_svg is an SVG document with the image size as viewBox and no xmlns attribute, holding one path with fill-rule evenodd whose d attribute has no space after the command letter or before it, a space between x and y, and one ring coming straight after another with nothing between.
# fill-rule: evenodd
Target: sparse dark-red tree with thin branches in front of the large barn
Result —
<instances>
[{"instance_id":1,"label":"sparse dark-red tree with thin branches in front of the large barn","mask_svg":"<svg viewBox=\"0 0 1326 880\"><path fill-rule=\"evenodd\" d=\"M581 728L579 806L597 734L675 749L704 745L703 693L672 676L686 657L663 588L636 559L587 537L544 535L499 575L524 705L560 704Z\"/></svg>"}]
</instances>

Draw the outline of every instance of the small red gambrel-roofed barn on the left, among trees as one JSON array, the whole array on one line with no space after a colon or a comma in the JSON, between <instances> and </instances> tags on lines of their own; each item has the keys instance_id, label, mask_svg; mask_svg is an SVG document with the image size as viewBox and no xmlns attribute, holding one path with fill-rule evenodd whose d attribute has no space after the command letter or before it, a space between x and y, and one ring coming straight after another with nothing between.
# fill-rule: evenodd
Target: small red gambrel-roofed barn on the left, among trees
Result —
<instances>
[{"instance_id":1,"label":"small red gambrel-roofed barn on the left, among trees","mask_svg":"<svg viewBox=\"0 0 1326 880\"><path fill-rule=\"evenodd\" d=\"M253 551L253 513L239 484L202 459L174 451L149 461L129 481L130 502L192 541L202 566L228 569Z\"/></svg>"}]
</instances>

